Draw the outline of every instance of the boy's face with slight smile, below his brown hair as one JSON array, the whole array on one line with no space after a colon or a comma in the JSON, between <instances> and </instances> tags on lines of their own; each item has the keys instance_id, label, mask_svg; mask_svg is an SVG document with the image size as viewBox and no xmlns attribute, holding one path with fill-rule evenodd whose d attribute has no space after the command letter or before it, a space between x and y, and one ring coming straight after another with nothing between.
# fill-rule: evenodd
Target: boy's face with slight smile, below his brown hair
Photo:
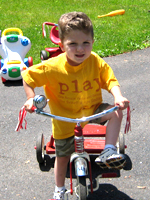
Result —
<instances>
[{"instance_id":1,"label":"boy's face with slight smile, below his brown hair","mask_svg":"<svg viewBox=\"0 0 150 200\"><path fill-rule=\"evenodd\" d=\"M77 66L90 56L93 42L91 34L74 30L67 34L60 47L66 52L68 63Z\"/></svg>"}]
</instances>

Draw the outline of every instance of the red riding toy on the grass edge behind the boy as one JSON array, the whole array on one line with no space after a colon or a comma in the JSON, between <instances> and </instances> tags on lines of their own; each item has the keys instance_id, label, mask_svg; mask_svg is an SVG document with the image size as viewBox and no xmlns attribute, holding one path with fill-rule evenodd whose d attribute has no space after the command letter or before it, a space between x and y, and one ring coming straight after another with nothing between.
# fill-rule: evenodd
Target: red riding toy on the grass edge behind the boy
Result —
<instances>
[{"instance_id":1,"label":"red riding toy on the grass edge behind the boy","mask_svg":"<svg viewBox=\"0 0 150 200\"><path fill-rule=\"evenodd\" d=\"M42 25L43 37L46 36L45 25L52 26L49 38L54 44L58 45L60 39L58 36L57 24L54 24L51 22L44 22ZM40 58L41 58L41 61L43 61L43 60L47 60L49 58L55 57L55 56L59 55L60 53L62 53L62 50L59 46L49 47L49 48L47 47L47 48L45 48L45 50L42 50L40 52Z\"/></svg>"}]
</instances>

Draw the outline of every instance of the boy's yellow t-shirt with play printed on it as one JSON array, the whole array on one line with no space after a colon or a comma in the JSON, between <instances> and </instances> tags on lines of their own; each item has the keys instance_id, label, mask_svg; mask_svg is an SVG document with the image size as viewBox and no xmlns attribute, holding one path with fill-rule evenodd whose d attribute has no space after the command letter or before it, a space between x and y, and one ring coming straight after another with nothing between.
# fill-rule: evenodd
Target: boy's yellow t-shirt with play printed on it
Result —
<instances>
[{"instance_id":1,"label":"boy's yellow t-shirt with play printed on it","mask_svg":"<svg viewBox=\"0 0 150 200\"><path fill-rule=\"evenodd\" d=\"M92 115L102 103L101 89L109 92L119 85L110 66L93 52L78 66L69 65L66 53L62 53L30 67L22 77L32 88L44 86L52 114L69 118ZM74 123L52 122L55 139L74 135Z\"/></svg>"}]
</instances>

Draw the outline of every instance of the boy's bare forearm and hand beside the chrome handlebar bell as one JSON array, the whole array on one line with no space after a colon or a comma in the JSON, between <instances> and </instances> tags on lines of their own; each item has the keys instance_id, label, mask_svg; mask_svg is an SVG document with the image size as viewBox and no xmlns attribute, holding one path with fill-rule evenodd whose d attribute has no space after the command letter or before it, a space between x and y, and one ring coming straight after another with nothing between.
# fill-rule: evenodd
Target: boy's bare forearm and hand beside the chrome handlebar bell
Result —
<instances>
[{"instance_id":1,"label":"boy's bare forearm and hand beside the chrome handlebar bell","mask_svg":"<svg viewBox=\"0 0 150 200\"><path fill-rule=\"evenodd\" d=\"M30 87L24 80L23 80L23 86L27 96L27 101L25 102L24 107L26 111L32 113L33 98L35 96L34 89Z\"/></svg>"}]
</instances>

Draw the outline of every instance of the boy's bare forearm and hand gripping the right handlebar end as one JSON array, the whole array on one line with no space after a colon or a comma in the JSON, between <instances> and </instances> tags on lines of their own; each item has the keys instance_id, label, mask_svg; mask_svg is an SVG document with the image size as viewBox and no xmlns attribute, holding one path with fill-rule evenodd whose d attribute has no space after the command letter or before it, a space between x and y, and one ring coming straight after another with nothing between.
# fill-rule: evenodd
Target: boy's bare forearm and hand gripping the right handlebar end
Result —
<instances>
[{"instance_id":1,"label":"boy's bare forearm and hand gripping the right handlebar end","mask_svg":"<svg viewBox=\"0 0 150 200\"><path fill-rule=\"evenodd\" d=\"M129 106L129 101L122 96L119 86L114 86L110 92L114 96L115 105L119 105L121 110L124 110Z\"/></svg>"}]
</instances>

